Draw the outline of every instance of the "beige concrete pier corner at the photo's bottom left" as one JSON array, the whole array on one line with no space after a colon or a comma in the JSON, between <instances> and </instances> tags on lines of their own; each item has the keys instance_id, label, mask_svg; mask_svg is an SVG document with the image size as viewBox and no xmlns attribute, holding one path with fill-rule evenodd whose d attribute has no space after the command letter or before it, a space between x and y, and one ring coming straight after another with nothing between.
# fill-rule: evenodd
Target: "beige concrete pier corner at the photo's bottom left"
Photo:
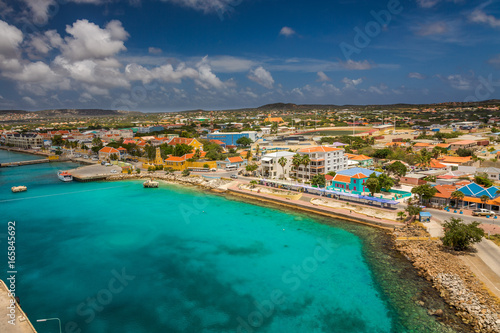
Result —
<instances>
[{"instance_id":1,"label":"beige concrete pier corner at the photo's bottom left","mask_svg":"<svg viewBox=\"0 0 500 333\"><path fill-rule=\"evenodd\" d=\"M9 320L12 320L11 314L15 319L9 323ZM0 332L36 333L24 311L9 295L9 289L2 280L0 280Z\"/></svg>"}]
</instances>

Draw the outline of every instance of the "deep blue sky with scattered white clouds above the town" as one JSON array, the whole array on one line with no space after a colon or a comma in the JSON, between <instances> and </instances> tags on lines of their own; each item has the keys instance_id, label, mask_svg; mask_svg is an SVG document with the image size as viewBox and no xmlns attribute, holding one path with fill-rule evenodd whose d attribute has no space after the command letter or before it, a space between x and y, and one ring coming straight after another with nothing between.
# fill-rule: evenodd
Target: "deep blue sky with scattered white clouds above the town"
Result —
<instances>
[{"instance_id":1,"label":"deep blue sky with scattered white clouds above the town","mask_svg":"<svg viewBox=\"0 0 500 333\"><path fill-rule=\"evenodd\" d=\"M0 0L0 109L500 98L500 3Z\"/></svg>"}]
</instances>

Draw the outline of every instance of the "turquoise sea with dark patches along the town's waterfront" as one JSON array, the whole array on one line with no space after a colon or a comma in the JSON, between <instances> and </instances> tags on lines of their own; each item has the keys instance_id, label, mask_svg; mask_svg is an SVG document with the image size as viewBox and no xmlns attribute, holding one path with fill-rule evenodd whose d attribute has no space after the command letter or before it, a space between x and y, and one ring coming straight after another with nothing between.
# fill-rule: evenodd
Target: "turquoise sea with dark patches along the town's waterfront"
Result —
<instances>
[{"instance_id":1,"label":"turquoise sea with dark patches along the town's waterfront","mask_svg":"<svg viewBox=\"0 0 500 333\"><path fill-rule=\"evenodd\" d=\"M0 278L15 221L16 294L40 333L53 317L85 333L466 332L416 304L447 311L376 229L177 185L57 179L76 166L0 168Z\"/></svg>"}]
</instances>

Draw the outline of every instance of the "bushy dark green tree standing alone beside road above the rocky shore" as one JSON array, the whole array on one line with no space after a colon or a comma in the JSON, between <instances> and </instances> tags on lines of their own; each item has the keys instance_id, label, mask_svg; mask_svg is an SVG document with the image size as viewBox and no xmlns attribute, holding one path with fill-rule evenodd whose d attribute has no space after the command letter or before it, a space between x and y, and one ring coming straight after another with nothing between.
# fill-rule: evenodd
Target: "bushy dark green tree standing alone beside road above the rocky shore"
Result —
<instances>
[{"instance_id":1,"label":"bushy dark green tree standing alone beside road above the rocky shore","mask_svg":"<svg viewBox=\"0 0 500 333\"><path fill-rule=\"evenodd\" d=\"M463 251L474 243L479 243L484 237L484 230L479 228L479 222L465 224L460 218L451 218L445 221L443 245L457 251Z\"/></svg>"}]
</instances>

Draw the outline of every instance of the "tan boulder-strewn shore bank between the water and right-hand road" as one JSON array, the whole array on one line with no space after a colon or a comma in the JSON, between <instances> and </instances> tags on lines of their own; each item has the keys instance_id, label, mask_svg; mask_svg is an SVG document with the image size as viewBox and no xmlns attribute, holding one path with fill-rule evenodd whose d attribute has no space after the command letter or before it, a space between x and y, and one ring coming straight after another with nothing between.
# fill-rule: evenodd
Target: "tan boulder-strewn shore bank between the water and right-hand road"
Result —
<instances>
[{"instance_id":1,"label":"tan boulder-strewn shore bank between the water and right-hand road","mask_svg":"<svg viewBox=\"0 0 500 333\"><path fill-rule=\"evenodd\" d=\"M422 233L417 227L398 230L397 236L414 237ZM500 332L500 303L481 281L462 263L457 252L440 241L397 241L395 249L410 260L419 275L432 282L434 288L475 332ZM440 316L441 310L429 310Z\"/></svg>"}]
</instances>

